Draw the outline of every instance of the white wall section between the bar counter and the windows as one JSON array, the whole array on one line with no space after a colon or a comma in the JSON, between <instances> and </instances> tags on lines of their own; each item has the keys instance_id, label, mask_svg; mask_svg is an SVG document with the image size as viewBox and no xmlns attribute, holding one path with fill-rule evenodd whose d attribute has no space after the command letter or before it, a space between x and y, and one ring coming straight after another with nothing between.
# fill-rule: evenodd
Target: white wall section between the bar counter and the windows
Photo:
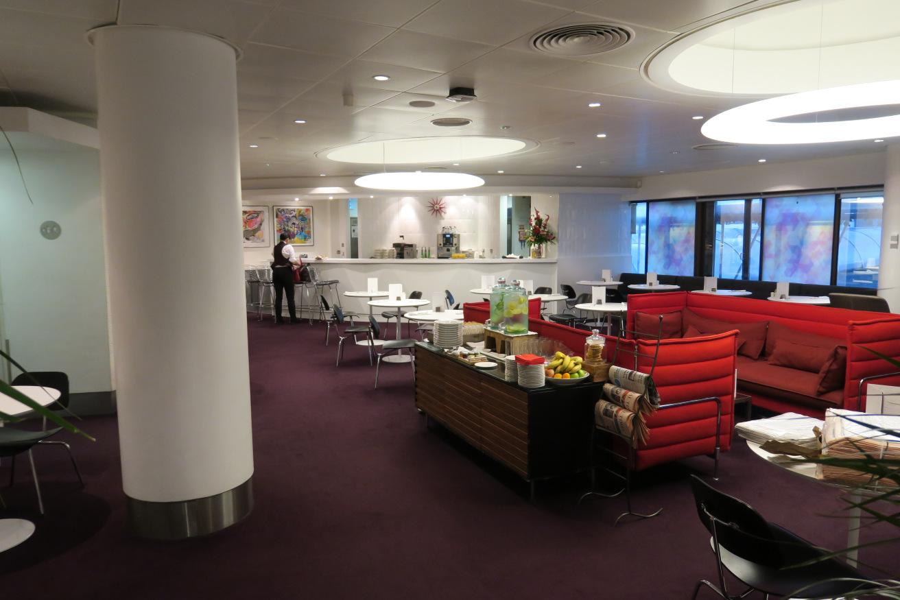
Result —
<instances>
[{"instance_id":1,"label":"white wall section between the bar counter and the windows","mask_svg":"<svg viewBox=\"0 0 900 600\"><path fill-rule=\"evenodd\" d=\"M603 269L613 275L631 271L631 212L621 196L561 193L559 212L560 283L599 279ZM575 291L589 290L575 286Z\"/></svg>"}]
</instances>

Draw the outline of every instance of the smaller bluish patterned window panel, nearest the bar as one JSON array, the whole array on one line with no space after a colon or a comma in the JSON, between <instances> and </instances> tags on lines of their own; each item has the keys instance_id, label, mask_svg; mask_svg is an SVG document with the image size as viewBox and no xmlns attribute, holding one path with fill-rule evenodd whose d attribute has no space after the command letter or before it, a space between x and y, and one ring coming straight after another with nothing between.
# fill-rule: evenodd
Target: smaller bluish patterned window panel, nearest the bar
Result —
<instances>
[{"instance_id":1,"label":"smaller bluish patterned window panel, nearest the bar","mask_svg":"<svg viewBox=\"0 0 900 600\"><path fill-rule=\"evenodd\" d=\"M696 207L693 200L648 204L647 271L694 274Z\"/></svg>"}]
</instances>

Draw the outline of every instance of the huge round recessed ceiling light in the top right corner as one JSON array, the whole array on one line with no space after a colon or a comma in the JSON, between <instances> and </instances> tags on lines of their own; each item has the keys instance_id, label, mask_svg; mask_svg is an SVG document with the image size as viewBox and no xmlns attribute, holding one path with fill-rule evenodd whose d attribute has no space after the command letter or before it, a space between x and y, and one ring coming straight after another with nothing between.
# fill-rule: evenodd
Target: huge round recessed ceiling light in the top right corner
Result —
<instances>
[{"instance_id":1,"label":"huge round recessed ceiling light in the top right corner","mask_svg":"<svg viewBox=\"0 0 900 600\"><path fill-rule=\"evenodd\" d=\"M690 32L644 76L685 94L761 96L900 79L900 2L797 0Z\"/></svg>"}]
</instances>

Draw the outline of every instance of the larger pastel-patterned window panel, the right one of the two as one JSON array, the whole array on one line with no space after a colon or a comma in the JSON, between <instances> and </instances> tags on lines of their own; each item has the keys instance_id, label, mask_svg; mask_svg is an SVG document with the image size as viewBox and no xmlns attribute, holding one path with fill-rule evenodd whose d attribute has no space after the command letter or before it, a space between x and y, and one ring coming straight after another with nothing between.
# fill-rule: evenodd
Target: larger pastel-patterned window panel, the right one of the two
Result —
<instances>
[{"instance_id":1,"label":"larger pastel-patterned window panel, the right one of the two","mask_svg":"<svg viewBox=\"0 0 900 600\"><path fill-rule=\"evenodd\" d=\"M762 279L832 281L834 194L767 198L762 232Z\"/></svg>"}]
</instances>

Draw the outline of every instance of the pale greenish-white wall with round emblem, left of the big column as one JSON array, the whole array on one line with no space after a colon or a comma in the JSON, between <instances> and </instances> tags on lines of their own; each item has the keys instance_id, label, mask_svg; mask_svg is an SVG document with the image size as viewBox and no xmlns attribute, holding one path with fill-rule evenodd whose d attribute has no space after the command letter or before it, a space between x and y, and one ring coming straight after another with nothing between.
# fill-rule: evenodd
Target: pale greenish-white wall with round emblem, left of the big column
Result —
<instances>
[{"instance_id":1,"label":"pale greenish-white wall with round emblem, left of the big column","mask_svg":"<svg viewBox=\"0 0 900 600\"><path fill-rule=\"evenodd\" d=\"M0 289L4 335L31 371L62 371L70 390L112 390L100 164L94 149L0 152ZM173 217L175 218L175 217ZM62 227L55 240L40 224ZM140 240L134 251L141 252Z\"/></svg>"}]
</instances>

